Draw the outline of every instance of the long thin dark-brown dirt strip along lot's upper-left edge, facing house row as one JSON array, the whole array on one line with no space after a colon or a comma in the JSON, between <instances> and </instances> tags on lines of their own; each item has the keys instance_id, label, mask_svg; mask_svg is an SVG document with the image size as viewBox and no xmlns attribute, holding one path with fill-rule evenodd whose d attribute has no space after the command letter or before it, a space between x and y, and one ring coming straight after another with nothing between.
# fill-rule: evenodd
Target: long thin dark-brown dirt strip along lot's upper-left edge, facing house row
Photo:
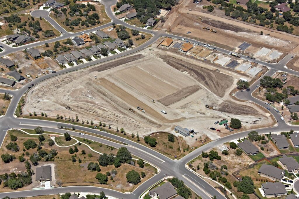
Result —
<instances>
[{"instance_id":1,"label":"long thin dark-brown dirt strip along lot's upper-left edge, facing house row","mask_svg":"<svg viewBox=\"0 0 299 199\"><path fill-rule=\"evenodd\" d=\"M137 54L137 55L134 55L134 56L129 56L129 57L126 57L126 58L123 58L123 59L118 59L114 62L109 62L109 63L106 63L106 64L99 65L97 67L91 68L89 71L90 72L106 71L110 68L113 68L113 67L116 67L116 66L119 66L119 65L123 65L123 64L129 63L129 62L133 62L133 61L141 59L143 57L144 56L141 55L141 54Z\"/></svg>"}]
</instances>

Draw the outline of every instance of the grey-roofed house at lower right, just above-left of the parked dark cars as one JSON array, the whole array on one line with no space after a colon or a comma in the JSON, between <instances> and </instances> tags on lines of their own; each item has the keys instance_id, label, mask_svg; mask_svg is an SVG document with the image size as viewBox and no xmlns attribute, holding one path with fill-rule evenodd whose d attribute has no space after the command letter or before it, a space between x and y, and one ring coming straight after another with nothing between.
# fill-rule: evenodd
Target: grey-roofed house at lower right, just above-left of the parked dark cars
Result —
<instances>
[{"instance_id":1,"label":"grey-roofed house at lower right, just above-left of the parked dark cars","mask_svg":"<svg viewBox=\"0 0 299 199\"><path fill-rule=\"evenodd\" d=\"M269 164L263 164L258 173L261 177L280 181L283 178L285 171Z\"/></svg>"}]
</instances>

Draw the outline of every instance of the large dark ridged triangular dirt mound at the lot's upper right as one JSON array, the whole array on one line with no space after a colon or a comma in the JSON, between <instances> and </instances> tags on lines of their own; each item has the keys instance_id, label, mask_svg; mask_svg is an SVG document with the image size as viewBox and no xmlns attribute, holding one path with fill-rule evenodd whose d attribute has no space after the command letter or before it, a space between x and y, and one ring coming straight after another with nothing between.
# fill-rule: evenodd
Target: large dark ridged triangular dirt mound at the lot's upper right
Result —
<instances>
[{"instance_id":1,"label":"large dark ridged triangular dirt mound at the lot's upper right","mask_svg":"<svg viewBox=\"0 0 299 199\"><path fill-rule=\"evenodd\" d=\"M173 57L161 58L173 68L176 68L179 71L187 71L193 78L205 85L205 87L219 97L223 97L225 90L234 82L232 76L208 70L194 64L187 64L186 62Z\"/></svg>"}]
</instances>

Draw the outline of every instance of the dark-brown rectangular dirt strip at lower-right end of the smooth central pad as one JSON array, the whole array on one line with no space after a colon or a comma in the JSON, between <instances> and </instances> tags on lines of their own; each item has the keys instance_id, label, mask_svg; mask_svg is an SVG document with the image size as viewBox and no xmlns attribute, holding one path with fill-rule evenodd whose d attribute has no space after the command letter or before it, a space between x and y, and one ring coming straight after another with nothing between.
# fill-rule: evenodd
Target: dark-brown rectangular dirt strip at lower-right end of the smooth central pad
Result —
<instances>
[{"instance_id":1,"label":"dark-brown rectangular dirt strip at lower-right end of the smooth central pad","mask_svg":"<svg viewBox=\"0 0 299 199\"><path fill-rule=\"evenodd\" d=\"M198 91L200 89L199 86L189 86L187 88L182 88L181 90L167 95L166 97L161 98L160 100L158 100L158 102L164 104L165 106L169 106L170 104L173 104L175 102L178 102L182 99L184 99L185 97L188 97L189 95L195 93L196 91Z\"/></svg>"}]
</instances>

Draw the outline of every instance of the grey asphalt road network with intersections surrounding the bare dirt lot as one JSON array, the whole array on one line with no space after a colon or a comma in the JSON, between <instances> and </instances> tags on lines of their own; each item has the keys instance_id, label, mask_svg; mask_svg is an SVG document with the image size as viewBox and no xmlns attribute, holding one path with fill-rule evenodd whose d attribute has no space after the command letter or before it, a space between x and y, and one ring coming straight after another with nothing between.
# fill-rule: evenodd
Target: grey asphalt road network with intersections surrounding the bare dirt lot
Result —
<instances>
[{"instance_id":1,"label":"grey asphalt road network with intersections surrounding the bare dirt lot","mask_svg":"<svg viewBox=\"0 0 299 199\"><path fill-rule=\"evenodd\" d=\"M71 72L74 70L78 70L78 69L82 69L91 65L96 65L99 64L101 62L105 62L111 59L115 59L118 58L120 56L125 56L128 55L130 53L135 53L138 50L142 50L143 48L153 44L155 41L157 41L157 39L159 39L161 36L168 36L168 37L172 37L175 39L185 39L188 40L189 42L197 42L200 45L203 45L202 42L200 41L196 41L193 39L188 39L185 37L181 37L181 36L175 36L175 35L171 35L171 34L167 34L164 33L163 31L153 31L153 30L145 30L142 28L138 28L138 27L134 27L132 25L129 25L119 19L117 19L113 13L112 10L110 9L111 5L114 5L116 3L116 1L111 1L111 0L103 0L102 3L105 5L105 9L107 12L107 15L113 20L113 22L115 22L116 24L121 24L121 25L125 25L128 28L132 28L132 29L138 29L140 31L143 32L147 32L147 33L151 33L153 34L152 39L150 39L149 41L145 42L143 45L137 47L137 48L133 48L132 50L128 50L126 52L120 53L120 54L115 54L113 56L109 56L109 57L105 57L93 62L88 62L85 64L81 64L81 65L77 65L71 68L67 68L67 69L63 69L61 71L57 71L57 73L55 74L47 74L44 76L41 76L37 79L34 79L32 82L30 82L30 84L38 84L39 82L51 78L53 76L57 76L66 72ZM32 15L35 17L39 17L42 16L44 19L46 19L47 21L49 21L55 28L57 28L57 30L59 30L62 33L62 36L57 37L57 38L53 38L53 39L49 39L43 42L35 42L29 45L23 45L20 47L8 47L7 45L5 45L5 51L0 53L0 56L4 56L7 55L9 53L13 53L13 52L17 52L19 50L24 50L25 48L30 48L30 47L35 47L35 46L39 46L39 45L43 45L45 42L55 42L55 41L59 41L62 39L66 39L72 36L76 36L76 35L80 35L82 32L78 32L78 33L68 33L66 30L64 30L62 27L60 27L59 24L57 24L53 19L51 19L48 15L48 11L46 10L39 10L39 11L33 11ZM95 27L95 28L91 28L89 30L84 30L84 32L89 33L98 29L102 29L105 27L109 27L111 25L111 23L102 25L100 27ZM210 46L209 48L216 48L216 50L218 50L221 53L226 53L228 54L230 51L222 49L222 48L218 48L216 46ZM263 61L259 61L259 60L252 60L249 59L243 55L240 55L242 59L247 59L249 61L254 61L257 62L261 65L267 66L270 70L267 72L266 75L272 75L274 74L275 71L284 71L290 74L294 74L294 75L298 75L299 76L299 72L297 71L292 71L289 69L284 68L283 66L289 62L292 58L292 55L287 55L284 59L282 59L279 63L275 63L275 64L270 64L267 62L263 62ZM256 85L259 84L259 81L255 82L253 85L251 85L251 89L250 92L237 92L236 93L236 97L243 99L243 100L250 100L254 103L257 103L263 107L268 107L264 102L257 100L256 98L252 97L251 93L254 91L254 88ZM36 128L36 126L42 126L43 129L45 131L51 131L51 132L57 132L57 133L65 133L65 129L60 129L57 128L57 126L64 126L67 128L72 128L73 125L68 125L65 123L57 123L57 122L51 122L51 121L46 121L46 120L33 120L33 119L21 119L21 118L15 118L14 117L14 113L17 107L17 104L20 100L20 98L26 93L26 91L28 90L28 86L24 86L23 88L17 90L17 91L8 91L5 89L0 89L0 93L4 93L4 92L9 92L12 96L13 99L10 103L10 106L5 114L4 117L0 118L0 143L2 144L5 134L7 132L8 129L10 128L27 128L27 129L34 129ZM271 110L271 114L274 115L275 119L278 121L278 124L275 127L269 127L269 128L261 128L261 129L256 129L259 133L269 133L269 131L289 131L290 128L292 128L293 130L299 130L298 126L294 126L294 127L290 127L289 125L287 125L285 122L281 122L280 120L280 116L279 114L277 114L275 111ZM196 174L194 174L193 172L191 172L190 170L185 168L186 163L188 163L190 160L194 159L195 157L197 157L198 155L201 154L202 151L207 151L211 148L213 148L216 145L228 142L230 140L233 139L238 139L240 137L245 137L247 136L248 132L250 131L243 131L243 132L238 132L235 134L231 134L229 136L226 137L222 137L220 139L214 140L213 142L210 142L202 147L199 147L198 149L196 149L195 151L191 152L190 154L186 155L185 157L181 158L180 160L171 160L170 158L158 153L157 151L154 151L150 148L147 148L145 146L142 146L138 143L132 142L130 140L126 140L123 137L118 137L116 135L113 134L109 134L103 131L98 131L95 129L91 129L91 128L86 128L86 127L82 127L82 126L75 126L76 129L78 130L82 130L82 131L86 131L86 132L91 132L94 134L99 134L102 136L106 136L115 140L118 140L122 143L126 143L128 145L122 145L119 143L114 143L111 142L109 140L105 140L105 139L101 139L98 137L94 137L94 136L90 136L90 135L84 135L84 137L88 138L89 140L94 140L103 144L107 144L110 146L114 146L115 148L120 148L121 146L125 146L129 149L129 151L137 156L137 157L141 157L143 158L145 161L154 164L155 166L159 167L161 169L161 172L156 174L154 177L150 178L149 180L147 180L145 183L141 184L137 189L135 189L131 194L123 194L120 192L116 192L110 189L103 189L103 188L98 188L98 187L91 187L91 186L73 186L73 187L60 187L60 188L54 188L54 189L41 189L41 190L30 190L30 191L17 191L17 192L7 192L7 193L1 193L1 197L5 197L5 196L9 196L11 198L17 198L17 197L26 197L26 196L34 196L34 195L48 195L48 194L57 194L57 193L65 193L65 192L94 192L94 193L99 193L100 191L104 191L106 193L106 195L111 195L117 198L138 198L139 195L141 195L149 186L153 185L154 183L158 182L159 180L161 180L163 177L165 177L166 175L168 176L175 176L178 177L179 179L183 180L184 183L190 188L192 189L194 192L196 192L196 194L200 195L202 198L204 199L208 199L211 196L216 195L217 199L219 198L225 198L224 196L222 196L218 191L216 191L216 189L214 189L212 186L210 186L209 183L205 182L205 180L203 180L202 178L198 177ZM72 132L69 131L71 135L73 136L77 136L77 137L82 137L80 136L78 133L76 132Z\"/></svg>"}]
</instances>

